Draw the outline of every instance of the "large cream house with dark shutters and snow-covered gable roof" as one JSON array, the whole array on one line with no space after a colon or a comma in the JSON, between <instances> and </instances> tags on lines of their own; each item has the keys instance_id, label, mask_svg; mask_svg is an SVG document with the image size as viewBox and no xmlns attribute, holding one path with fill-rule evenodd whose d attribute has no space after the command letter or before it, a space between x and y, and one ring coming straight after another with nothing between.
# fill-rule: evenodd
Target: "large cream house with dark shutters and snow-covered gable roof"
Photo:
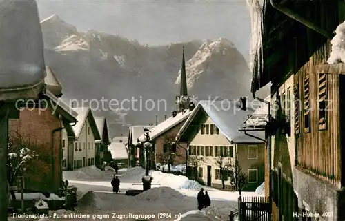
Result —
<instances>
[{"instance_id":1,"label":"large cream house with dark shutters and snow-covered gable roof","mask_svg":"<svg viewBox=\"0 0 345 221\"><path fill-rule=\"evenodd\" d=\"M264 142L238 131L255 106L246 102L246 110L242 110L242 105L241 102L201 101L175 137L177 142L188 146L188 156L204 159L205 162L188 167L195 167L193 173L208 186L222 188L221 177L225 176L225 188L232 188L228 174L220 173L219 159L224 164L239 161L247 175L246 191L255 191L264 182ZM254 135L264 139L262 132Z\"/></svg>"}]
</instances>

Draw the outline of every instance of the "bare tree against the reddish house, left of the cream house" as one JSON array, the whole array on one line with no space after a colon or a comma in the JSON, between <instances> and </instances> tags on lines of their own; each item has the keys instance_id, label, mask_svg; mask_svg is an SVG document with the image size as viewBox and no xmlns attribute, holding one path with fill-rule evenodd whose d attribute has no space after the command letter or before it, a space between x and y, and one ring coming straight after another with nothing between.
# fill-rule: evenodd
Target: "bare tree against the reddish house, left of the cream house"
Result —
<instances>
[{"instance_id":1,"label":"bare tree against the reddish house, left of the cream house","mask_svg":"<svg viewBox=\"0 0 345 221\"><path fill-rule=\"evenodd\" d=\"M166 136L163 144L163 152L157 154L157 159L159 163L168 164L168 171L170 172L170 165L173 164L177 157L181 157L178 152L177 144L175 142L175 137ZM164 168L163 168L164 170Z\"/></svg>"}]
</instances>

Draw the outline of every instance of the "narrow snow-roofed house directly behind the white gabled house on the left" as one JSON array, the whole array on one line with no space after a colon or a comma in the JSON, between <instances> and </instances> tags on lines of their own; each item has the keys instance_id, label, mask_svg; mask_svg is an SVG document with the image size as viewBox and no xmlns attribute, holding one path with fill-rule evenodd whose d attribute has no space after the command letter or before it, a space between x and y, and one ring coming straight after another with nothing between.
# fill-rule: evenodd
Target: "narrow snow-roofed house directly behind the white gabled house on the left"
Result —
<instances>
[{"instance_id":1,"label":"narrow snow-roofed house directly behind the white gabled house on the left","mask_svg":"<svg viewBox=\"0 0 345 221\"><path fill-rule=\"evenodd\" d=\"M110 140L106 117L95 117L95 122L101 136L100 140L95 140L95 166L100 169L104 161L104 155L108 151Z\"/></svg>"}]
</instances>

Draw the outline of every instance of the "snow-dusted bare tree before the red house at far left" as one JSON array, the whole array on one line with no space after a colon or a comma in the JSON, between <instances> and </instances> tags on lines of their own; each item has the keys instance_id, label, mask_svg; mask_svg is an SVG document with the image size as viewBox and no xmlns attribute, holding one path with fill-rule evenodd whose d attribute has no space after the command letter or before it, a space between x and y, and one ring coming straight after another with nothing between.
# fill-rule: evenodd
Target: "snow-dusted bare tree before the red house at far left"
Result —
<instances>
[{"instance_id":1,"label":"snow-dusted bare tree before the red house at far left","mask_svg":"<svg viewBox=\"0 0 345 221\"><path fill-rule=\"evenodd\" d=\"M8 141L8 156L7 156L7 178L8 184L14 186L14 182L18 175L23 175L27 171L30 160L34 157L38 157L35 151L34 145L30 143L30 140L24 139L24 137L17 132L12 132ZM14 190L10 190L12 200L16 201L16 195ZM14 203L14 211L17 211L17 206Z\"/></svg>"}]
</instances>

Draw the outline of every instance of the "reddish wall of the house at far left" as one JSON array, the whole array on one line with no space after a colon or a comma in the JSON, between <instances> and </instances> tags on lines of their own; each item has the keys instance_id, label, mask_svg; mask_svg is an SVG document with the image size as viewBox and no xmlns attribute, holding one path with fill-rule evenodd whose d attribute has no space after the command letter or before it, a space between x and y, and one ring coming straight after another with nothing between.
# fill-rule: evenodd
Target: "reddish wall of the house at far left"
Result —
<instances>
[{"instance_id":1,"label":"reddish wall of the house at far left","mask_svg":"<svg viewBox=\"0 0 345 221\"><path fill-rule=\"evenodd\" d=\"M37 159L30 161L28 173L25 174L25 189L32 191L57 191L59 188L59 163L61 131L54 134L54 148L52 149L52 131L62 126L61 120L52 115L50 109L23 110L19 119L10 119L9 133L15 135L17 131L30 141L32 148L39 154ZM52 175L51 160L54 158L54 175Z\"/></svg>"}]
</instances>

